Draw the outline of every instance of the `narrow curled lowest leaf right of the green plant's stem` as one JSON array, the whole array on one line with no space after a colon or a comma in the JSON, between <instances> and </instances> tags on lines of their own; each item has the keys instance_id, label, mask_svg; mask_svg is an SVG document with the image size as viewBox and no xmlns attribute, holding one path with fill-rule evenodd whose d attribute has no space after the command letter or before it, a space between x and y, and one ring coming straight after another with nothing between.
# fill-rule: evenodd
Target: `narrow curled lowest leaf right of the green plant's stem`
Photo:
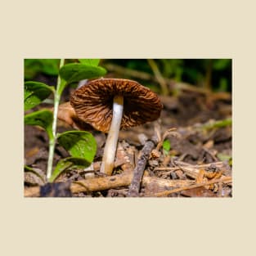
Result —
<instances>
[{"instance_id":1,"label":"narrow curled lowest leaf right of the green plant's stem","mask_svg":"<svg viewBox=\"0 0 256 256\"><path fill-rule=\"evenodd\" d=\"M73 168L87 168L90 166L90 162L87 159L79 158L79 157L67 157L65 159L61 159L56 168L52 172L52 176L49 178L49 182L54 182L56 177L58 177L61 173L64 173L67 170L71 170Z\"/></svg>"}]
</instances>

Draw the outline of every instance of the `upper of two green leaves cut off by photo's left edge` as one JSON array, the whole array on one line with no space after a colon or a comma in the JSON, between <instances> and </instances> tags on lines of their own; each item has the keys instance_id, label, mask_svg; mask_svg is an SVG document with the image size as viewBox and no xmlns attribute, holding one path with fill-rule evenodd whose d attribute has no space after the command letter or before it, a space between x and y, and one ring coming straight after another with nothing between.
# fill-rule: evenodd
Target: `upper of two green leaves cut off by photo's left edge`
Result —
<instances>
[{"instance_id":1,"label":"upper of two green leaves cut off by photo's left edge","mask_svg":"<svg viewBox=\"0 0 256 256\"><path fill-rule=\"evenodd\" d=\"M30 110L40 104L54 92L54 88L45 83L26 82L24 90L24 108Z\"/></svg>"}]
</instances>

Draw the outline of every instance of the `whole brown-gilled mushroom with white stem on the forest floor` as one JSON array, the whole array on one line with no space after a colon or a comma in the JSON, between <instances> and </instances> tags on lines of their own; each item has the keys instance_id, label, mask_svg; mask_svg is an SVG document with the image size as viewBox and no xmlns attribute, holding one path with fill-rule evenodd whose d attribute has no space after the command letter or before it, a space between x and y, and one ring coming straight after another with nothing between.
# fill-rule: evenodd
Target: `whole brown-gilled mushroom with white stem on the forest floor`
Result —
<instances>
[{"instance_id":1,"label":"whole brown-gilled mushroom with white stem on the forest floor","mask_svg":"<svg viewBox=\"0 0 256 256\"><path fill-rule=\"evenodd\" d=\"M128 79L96 79L75 90L70 105L78 118L101 132L108 132L101 173L111 175L119 129L159 118L163 108L149 88Z\"/></svg>"}]
</instances>

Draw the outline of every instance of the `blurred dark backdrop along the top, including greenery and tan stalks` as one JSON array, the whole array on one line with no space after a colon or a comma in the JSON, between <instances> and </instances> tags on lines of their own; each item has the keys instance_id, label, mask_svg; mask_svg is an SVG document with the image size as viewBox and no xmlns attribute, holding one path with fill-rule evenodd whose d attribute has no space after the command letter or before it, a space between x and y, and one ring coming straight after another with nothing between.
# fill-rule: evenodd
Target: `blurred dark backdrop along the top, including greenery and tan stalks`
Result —
<instances>
[{"instance_id":1,"label":"blurred dark backdrop along the top, including greenery and tan stalks","mask_svg":"<svg viewBox=\"0 0 256 256\"><path fill-rule=\"evenodd\" d=\"M231 92L231 59L102 59L100 65L108 71L107 77L135 79L163 95L174 93L171 82ZM54 85L58 66L57 59L26 59L25 80L47 80Z\"/></svg>"}]
</instances>

